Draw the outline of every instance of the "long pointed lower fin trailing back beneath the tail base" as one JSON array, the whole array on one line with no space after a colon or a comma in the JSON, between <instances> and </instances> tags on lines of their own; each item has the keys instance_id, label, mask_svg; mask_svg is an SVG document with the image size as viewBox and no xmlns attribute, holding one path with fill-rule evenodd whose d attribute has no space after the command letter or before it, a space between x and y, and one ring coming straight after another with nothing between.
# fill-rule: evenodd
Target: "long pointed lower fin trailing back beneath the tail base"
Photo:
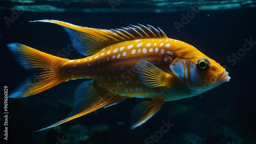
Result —
<instances>
[{"instance_id":1,"label":"long pointed lower fin trailing back beneath the tail base","mask_svg":"<svg viewBox=\"0 0 256 144\"><path fill-rule=\"evenodd\" d=\"M38 131L66 123L73 119L84 116L90 112L93 112L99 108L114 105L121 102L125 98L126 97L119 95L113 96L110 92L99 88L96 84L96 81L93 79L84 81L79 84L75 90L75 105L69 116L62 121L59 121Z\"/></svg>"}]
</instances>

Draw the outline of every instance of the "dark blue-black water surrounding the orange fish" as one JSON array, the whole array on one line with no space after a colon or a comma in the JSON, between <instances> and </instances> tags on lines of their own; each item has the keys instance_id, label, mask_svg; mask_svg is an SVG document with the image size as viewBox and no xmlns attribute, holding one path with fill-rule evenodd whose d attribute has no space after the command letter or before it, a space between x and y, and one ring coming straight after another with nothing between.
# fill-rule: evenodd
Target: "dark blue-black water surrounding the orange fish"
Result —
<instances>
[{"instance_id":1,"label":"dark blue-black water surrounding the orange fish","mask_svg":"<svg viewBox=\"0 0 256 144\"><path fill-rule=\"evenodd\" d=\"M4 109L4 85L11 92L31 74L14 61L7 43L22 43L53 55L71 43L61 26L29 20L55 19L95 28L120 28L137 23L158 26L169 38L187 42L225 65L231 79L201 96L166 102L155 117L134 130L130 129L131 110L143 99L125 99L118 105L97 110L60 127L33 133L68 116L74 103L74 90L84 81L70 80L35 96L9 98L8 140L1 134L0 143L256 143L256 9L200 11L180 28L180 32L174 22L181 23L181 14L186 15L187 11L24 12L8 26L4 17L11 18L12 13L0 12L1 110ZM243 51L245 39L254 41L251 49L240 53L242 56L236 63L234 58L228 61L227 57L232 53ZM72 51L67 57L78 59L83 56ZM2 114L0 125L3 133ZM160 132L163 121L174 124L166 133ZM118 125L117 122L123 124ZM79 125L78 128L75 125ZM97 126L101 130L97 130ZM71 131L71 127L75 130ZM155 134L159 137L157 141L145 142L146 138ZM89 135L89 140L84 140L86 135Z\"/></svg>"}]
</instances>

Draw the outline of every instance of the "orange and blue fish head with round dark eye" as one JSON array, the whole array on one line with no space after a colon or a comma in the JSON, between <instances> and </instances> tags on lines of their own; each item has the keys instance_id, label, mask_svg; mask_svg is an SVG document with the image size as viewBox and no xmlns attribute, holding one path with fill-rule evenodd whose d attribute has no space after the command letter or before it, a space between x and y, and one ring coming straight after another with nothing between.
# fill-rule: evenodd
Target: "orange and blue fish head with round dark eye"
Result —
<instances>
[{"instance_id":1,"label":"orange and blue fish head with round dark eye","mask_svg":"<svg viewBox=\"0 0 256 144\"><path fill-rule=\"evenodd\" d=\"M230 79L225 68L197 49L187 52L184 56L177 56L169 67L183 87L195 95L213 89Z\"/></svg>"}]
</instances>

